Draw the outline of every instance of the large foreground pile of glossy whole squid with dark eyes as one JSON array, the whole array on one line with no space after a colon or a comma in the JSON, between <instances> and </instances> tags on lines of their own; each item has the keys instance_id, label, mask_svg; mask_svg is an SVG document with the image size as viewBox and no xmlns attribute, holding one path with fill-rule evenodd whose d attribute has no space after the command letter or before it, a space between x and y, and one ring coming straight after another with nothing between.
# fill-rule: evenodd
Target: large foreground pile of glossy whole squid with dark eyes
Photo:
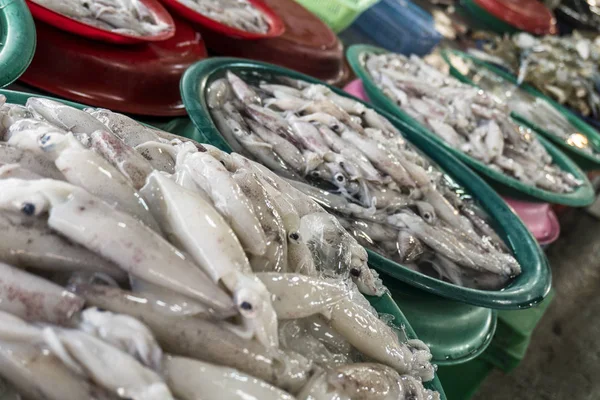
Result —
<instances>
[{"instance_id":1,"label":"large foreground pile of glossy whole squid with dark eyes","mask_svg":"<svg viewBox=\"0 0 600 400\"><path fill-rule=\"evenodd\" d=\"M0 98L0 378L28 400L438 399L337 220L103 109ZM387 316L386 316L387 317Z\"/></svg>"}]
</instances>

